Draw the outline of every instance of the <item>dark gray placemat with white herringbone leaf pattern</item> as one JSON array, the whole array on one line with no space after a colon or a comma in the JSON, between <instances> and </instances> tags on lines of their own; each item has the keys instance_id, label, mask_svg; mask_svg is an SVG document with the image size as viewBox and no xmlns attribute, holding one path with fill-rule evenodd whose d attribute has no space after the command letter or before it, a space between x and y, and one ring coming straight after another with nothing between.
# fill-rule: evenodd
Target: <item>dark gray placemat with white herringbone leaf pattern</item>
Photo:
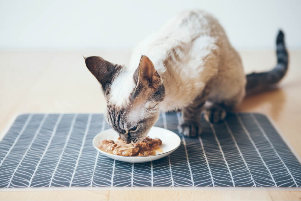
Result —
<instances>
[{"instance_id":1,"label":"dark gray placemat with white herringbone leaf pattern","mask_svg":"<svg viewBox=\"0 0 301 201\"><path fill-rule=\"evenodd\" d=\"M179 113L155 126L178 133ZM23 114L0 142L0 187L300 187L301 164L264 115L201 121L199 138L182 139L153 162L116 161L92 146L109 129L102 114Z\"/></svg>"}]
</instances>

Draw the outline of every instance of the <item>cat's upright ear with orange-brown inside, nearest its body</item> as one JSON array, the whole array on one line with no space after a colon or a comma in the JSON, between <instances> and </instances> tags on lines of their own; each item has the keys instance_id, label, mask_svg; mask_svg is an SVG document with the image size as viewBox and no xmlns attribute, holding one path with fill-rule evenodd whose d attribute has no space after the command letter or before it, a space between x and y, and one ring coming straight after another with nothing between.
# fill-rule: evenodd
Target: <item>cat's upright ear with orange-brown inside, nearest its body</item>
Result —
<instances>
[{"instance_id":1,"label":"cat's upright ear with orange-brown inside, nearest its body","mask_svg":"<svg viewBox=\"0 0 301 201\"><path fill-rule=\"evenodd\" d=\"M143 86L155 86L158 81L161 81L153 62L145 55L140 59L139 66L134 73L134 80L137 85Z\"/></svg>"}]
</instances>

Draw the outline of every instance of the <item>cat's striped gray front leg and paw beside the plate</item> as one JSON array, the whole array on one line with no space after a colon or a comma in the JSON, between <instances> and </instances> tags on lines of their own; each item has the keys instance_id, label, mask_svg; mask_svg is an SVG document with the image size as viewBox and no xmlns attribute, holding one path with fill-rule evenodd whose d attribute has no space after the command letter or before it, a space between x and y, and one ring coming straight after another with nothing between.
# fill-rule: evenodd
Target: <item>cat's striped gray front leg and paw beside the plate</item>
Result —
<instances>
[{"instance_id":1,"label":"cat's striped gray front leg and paw beside the plate","mask_svg":"<svg viewBox=\"0 0 301 201\"><path fill-rule=\"evenodd\" d=\"M203 105L209 96L210 88L210 84L208 84L190 105L182 109L182 117L178 127L182 135L197 137L202 133L200 126L201 113Z\"/></svg>"}]
</instances>

